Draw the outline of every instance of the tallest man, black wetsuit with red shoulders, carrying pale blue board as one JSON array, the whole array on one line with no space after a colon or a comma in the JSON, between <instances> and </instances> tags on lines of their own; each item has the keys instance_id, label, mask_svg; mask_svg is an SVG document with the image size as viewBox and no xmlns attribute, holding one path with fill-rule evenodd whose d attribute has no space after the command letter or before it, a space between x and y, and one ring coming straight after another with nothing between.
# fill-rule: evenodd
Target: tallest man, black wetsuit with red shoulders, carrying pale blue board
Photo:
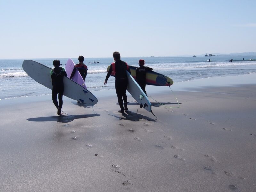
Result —
<instances>
[{"instance_id":1,"label":"tallest man, black wetsuit with red shoulders, carrying pale blue board","mask_svg":"<svg viewBox=\"0 0 256 192\"><path fill-rule=\"evenodd\" d=\"M113 71L115 75L115 88L116 88L118 104L121 108L121 110L119 110L118 112L124 113L124 111L128 111L127 95L126 95L128 78L127 78L126 71L128 71L130 74L131 74L131 71L127 63L120 59L121 56L119 52L116 52L116 51L113 52L113 58L115 62L112 63L109 68L104 85L106 85L106 83L108 82L108 78L110 77Z\"/></svg>"}]
</instances>

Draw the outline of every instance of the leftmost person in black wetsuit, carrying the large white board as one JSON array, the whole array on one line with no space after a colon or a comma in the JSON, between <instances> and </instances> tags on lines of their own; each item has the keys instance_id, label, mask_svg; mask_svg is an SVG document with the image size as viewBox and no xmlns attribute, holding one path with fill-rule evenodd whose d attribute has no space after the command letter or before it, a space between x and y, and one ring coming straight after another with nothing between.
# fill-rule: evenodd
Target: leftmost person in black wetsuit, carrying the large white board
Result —
<instances>
[{"instance_id":1,"label":"leftmost person in black wetsuit, carrying the large white board","mask_svg":"<svg viewBox=\"0 0 256 192\"><path fill-rule=\"evenodd\" d=\"M51 70L51 78L52 78L52 101L57 108L57 114L61 115L61 108L63 105L63 92L64 92L64 84L63 77L67 76L67 73L63 67L60 67L60 61L53 61L54 69ZM59 104L57 101L57 94L59 99Z\"/></svg>"}]
</instances>

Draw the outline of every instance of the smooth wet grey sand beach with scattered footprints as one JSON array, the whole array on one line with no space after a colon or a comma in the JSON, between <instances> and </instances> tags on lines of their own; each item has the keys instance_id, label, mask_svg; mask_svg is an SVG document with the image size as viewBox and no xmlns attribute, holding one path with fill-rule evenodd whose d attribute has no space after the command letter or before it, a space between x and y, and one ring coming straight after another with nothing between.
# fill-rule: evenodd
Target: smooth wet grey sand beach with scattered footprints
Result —
<instances>
[{"instance_id":1,"label":"smooth wet grey sand beach with scattered footprints","mask_svg":"<svg viewBox=\"0 0 256 192\"><path fill-rule=\"evenodd\" d=\"M146 87L157 119L114 90L62 117L51 96L0 100L0 191L254 192L256 83L188 87Z\"/></svg>"}]
</instances>

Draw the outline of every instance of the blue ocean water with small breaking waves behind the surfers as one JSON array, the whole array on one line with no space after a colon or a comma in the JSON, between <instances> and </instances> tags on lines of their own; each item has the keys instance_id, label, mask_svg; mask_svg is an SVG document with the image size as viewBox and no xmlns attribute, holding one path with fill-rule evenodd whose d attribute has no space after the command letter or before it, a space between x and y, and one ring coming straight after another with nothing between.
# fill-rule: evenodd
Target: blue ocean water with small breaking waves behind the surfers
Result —
<instances>
[{"instance_id":1,"label":"blue ocean water with small breaking waves behind the surfers","mask_svg":"<svg viewBox=\"0 0 256 192\"><path fill-rule=\"evenodd\" d=\"M206 60L211 59L211 62ZM229 59L233 62L229 62ZM244 58L244 60L243 60ZM145 57L121 58L128 65L138 66L140 59L154 71L170 77L175 82L191 81L194 79L236 76L256 73L256 58L250 56L219 56L219 57ZM63 67L68 58L57 58ZM77 58L71 58L78 63ZM24 59L0 59L0 100L17 97L51 94L51 90L30 78L22 69ZM54 59L31 59L48 67L53 67ZM96 64L94 64L96 61ZM99 61L99 63L97 63ZM113 58L85 58L84 64L88 67L85 84L89 91L114 89L115 78L110 76L105 86L104 81L107 67Z\"/></svg>"}]
</instances>

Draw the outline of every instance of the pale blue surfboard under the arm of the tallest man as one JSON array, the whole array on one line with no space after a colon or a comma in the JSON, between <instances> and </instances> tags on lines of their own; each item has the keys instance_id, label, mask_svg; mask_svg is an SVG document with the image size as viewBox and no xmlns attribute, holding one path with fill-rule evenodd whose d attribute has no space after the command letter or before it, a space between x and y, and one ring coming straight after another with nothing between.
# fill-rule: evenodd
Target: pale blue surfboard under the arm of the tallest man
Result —
<instances>
[{"instance_id":1,"label":"pale blue surfboard under the arm of the tallest man","mask_svg":"<svg viewBox=\"0 0 256 192\"><path fill-rule=\"evenodd\" d=\"M126 73L128 77L127 91L139 103L140 106L143 106L143 108L147 111L151 111L151 103L149 102L147 95L144 93L144 91L142 91L132 75L128 71L126 71Z\"/></svg>"}]
</instances>

